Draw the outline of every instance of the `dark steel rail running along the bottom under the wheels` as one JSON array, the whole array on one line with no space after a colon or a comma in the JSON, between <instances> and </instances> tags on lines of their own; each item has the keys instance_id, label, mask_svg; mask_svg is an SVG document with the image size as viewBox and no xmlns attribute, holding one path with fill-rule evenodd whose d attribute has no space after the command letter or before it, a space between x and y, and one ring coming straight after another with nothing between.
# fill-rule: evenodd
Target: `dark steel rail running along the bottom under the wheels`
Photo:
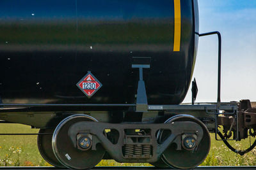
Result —
<instances>
[{"instance_id":1,"label":"dark steel rail running along the bottom under the wheels","mask_svg":"<svg viewBox=\"0 0 256 170\"><path fill-rule=\"evenodd\" d=\"M55 167L0 167L0 169L38 169L38 170L43 170L43 169L58 169ZM102 169L108 169L108 170L116 170L116 169L122 169L122 170L160 170L157 169L156 167L94 167L92 168L93 170L102 170ZM162 168L162 169L167 169L167 168ZM213 169L225 169L225 170L232 170L232 169L246 169L246 170L251 170L251 169L256 169L256 166L200 166L196 167L195 169L199 170L213 170ZM61 169L60 169L61 170ZM175 169L173 169L175 170Z\"/></svg>"}]
</instances>

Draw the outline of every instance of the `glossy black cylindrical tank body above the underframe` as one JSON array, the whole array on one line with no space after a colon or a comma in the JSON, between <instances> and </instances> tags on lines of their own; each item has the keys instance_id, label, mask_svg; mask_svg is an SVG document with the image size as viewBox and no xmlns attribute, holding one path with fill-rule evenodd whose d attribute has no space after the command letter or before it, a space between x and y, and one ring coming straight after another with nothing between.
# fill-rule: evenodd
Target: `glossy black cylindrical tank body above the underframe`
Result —
<instances>
[{"instance_id":1,"label":"glossy black cylindrical tank body above the underframe","mask_svg":"<svg viewBox=\"0 0 256 170\"><path fill-rule=\"evenodd\" d=\"M3 103L136 101L143 69L148 104L179 104L198 45L193 0L0 1L0 97ZM87 97L77 82L91 71L102 87Z\"/></svg>"}]
</instances>

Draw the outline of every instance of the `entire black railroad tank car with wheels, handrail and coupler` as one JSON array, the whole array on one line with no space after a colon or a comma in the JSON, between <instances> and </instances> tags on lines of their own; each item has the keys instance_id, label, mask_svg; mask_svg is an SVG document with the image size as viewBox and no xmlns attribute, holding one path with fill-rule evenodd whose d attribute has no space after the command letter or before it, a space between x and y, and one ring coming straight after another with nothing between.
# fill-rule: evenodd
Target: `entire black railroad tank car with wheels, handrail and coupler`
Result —
<instances>
[{"instance_id":1,"label":"entire black railroad tank car with wheels, handrail and coupler","mask_svg":"<svg viewBox=\"0 0 256 170\"><path fill-rule=\"evenodd\" d=\"M38 128L56 167L102 159L191 169L211 146L256 135L249 100L222 103L221 34L197 0L0 1L0 120ZM218 99L195 103L200 36L218 36ZM192 103L181 104L192 83ZM219 128L221 127L221 129Z\"/></svg>"}]
</instances>

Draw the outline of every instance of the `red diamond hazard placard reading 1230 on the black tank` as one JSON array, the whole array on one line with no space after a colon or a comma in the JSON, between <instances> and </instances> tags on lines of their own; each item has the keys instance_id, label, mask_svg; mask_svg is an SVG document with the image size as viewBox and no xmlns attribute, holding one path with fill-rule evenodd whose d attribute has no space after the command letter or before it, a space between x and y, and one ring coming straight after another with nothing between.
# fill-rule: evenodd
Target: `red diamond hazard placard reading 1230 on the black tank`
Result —
<instances>
[{"instance_id":1,"label":"red diamond hazard placard reading 1230 on the black tank","mask_svg":"<svg viewBox=\"0 0 256 170\"><path fill-rule=\"evenodd\" d=\"M76 85L89 98L102 87L100 81L90 71Z\"/></svg>"}]
</instances>

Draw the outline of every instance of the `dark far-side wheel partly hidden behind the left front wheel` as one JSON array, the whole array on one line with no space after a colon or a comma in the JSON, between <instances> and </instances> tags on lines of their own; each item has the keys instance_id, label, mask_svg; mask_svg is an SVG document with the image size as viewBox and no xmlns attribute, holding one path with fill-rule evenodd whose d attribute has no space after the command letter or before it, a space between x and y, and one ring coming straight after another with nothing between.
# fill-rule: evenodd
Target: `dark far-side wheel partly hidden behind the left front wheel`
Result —
<instances>
[{"instance_id":1,"label":"dark far-side wheel partly hidden behind the left front wheel","mask_svg":"<svg viewBox=\"0 0 256 170\"><path fill-rule=\"evenodd\" d=\"M51 133L40 134L37 136L37 146L40 154L46 162L55 167L65 167L58 159L56 159L52 151L52 133L54 129L40 129L39 133Z\"/></svg>"}]
</instances>

